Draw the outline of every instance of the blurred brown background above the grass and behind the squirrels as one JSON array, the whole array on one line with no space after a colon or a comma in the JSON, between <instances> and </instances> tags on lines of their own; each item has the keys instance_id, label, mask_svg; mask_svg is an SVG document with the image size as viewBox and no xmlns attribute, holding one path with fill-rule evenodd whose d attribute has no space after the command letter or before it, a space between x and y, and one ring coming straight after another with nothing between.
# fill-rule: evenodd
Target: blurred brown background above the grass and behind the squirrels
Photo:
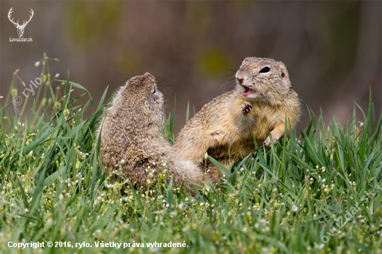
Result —
<instances>
[{"instance_id":1,"label":"blurred brown background above the grass and behind the squirrels","mask_svg":"<svg viewBox=\"0 0 382 254\"><path fill-rule=\"evenodd\" d=\"M18 37L11 7L19 24L33 9L23 36L33 42L10 42ZM69 69L96 105L107 85L110 96L149 71L163 81L167 112L176 94L178 133L189 101L199 111L231 90L242 60L257 56L287 66L304 105L298 130L308 124L307 107L322 109L326 124L333 115L345 124L355 103L367 110L370 87L381 112L381 10L381 1L1 1L0 105L13 71L28 85L46 52L60 60L49 62L51 74L66 79Z\"/></svg>"}]
</instances>

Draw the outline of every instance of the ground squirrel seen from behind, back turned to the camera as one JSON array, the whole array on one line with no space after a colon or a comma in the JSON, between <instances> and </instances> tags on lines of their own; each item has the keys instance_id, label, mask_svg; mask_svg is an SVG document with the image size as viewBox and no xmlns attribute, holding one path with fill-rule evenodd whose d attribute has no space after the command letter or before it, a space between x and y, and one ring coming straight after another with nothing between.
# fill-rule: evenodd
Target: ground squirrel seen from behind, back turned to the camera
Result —
<instances>
[{"instance_id":1,"label":"ground squirrel seen from behind, back turned to the camera","mask_svg":"<svg viewBox=\"0 0 382 254\"><path fill-rule=\"evenodd\" d=\"M151 74L130 78L120 87L98 129L99 155L106 171L122 167L134 187L143 189L165 169L178 187L183 182L200 183L203 173L192 162L178 160L163 137L164 117L163 94Z\"/></svg>"}]
</instances>

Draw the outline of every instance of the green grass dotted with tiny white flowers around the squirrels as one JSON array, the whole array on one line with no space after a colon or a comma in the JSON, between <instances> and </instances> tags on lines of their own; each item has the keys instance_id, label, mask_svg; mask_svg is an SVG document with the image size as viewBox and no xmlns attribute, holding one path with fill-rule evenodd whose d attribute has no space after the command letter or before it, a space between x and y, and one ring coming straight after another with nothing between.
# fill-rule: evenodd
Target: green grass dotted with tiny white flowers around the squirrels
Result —
<instances>
[{"instance_id":1,"label":"green grass dotted with tiny white flowers around the squirrels","mask_svg":"<svg viewBox=\"0 0 382 254\"><path fill-rule=\"evenodd\" d=\"M90 96L85 88L68 79L60 95L49 80L39 88L42 99L33 97L30 118L24 105L8 101L0 110L1 253L19 253L8 242L49 241L62 247L22 253L382 252L382 117L374 116L372 102L363 123L356 110L346 126L333 118L326 127L311 115L304 131L292 130L272 149L260 147L223 170L224 183L196 196L164 180L147 193L128 187L122 195L92 147L106 92L99 103L90 97L77 105L72 90ZM13 84L10 99L16 90ZM92 115L85 118L85 110ZM169 140L173 122L165 123ZM122 247L95 247L102 241ZM154 242L186 247L146 247Z\"/></svg>"}]
</instances>

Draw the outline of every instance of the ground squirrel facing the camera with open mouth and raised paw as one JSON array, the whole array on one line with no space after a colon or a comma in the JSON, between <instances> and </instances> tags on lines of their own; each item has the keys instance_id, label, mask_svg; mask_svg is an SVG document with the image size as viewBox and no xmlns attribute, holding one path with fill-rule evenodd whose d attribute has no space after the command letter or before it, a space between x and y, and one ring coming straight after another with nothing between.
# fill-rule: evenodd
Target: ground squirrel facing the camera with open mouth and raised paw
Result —
<instances>
[{"instance_id":1,"label":"ground squirrel facing the camera with open mouth and raised paw","mask_svg":"<svg viewBox=\"0 0 382 254\"><path fill-rule=\"evenodd\" d=\"M269 146L282 137L285 117L287 129L299 121L299 97L283 62L245 58L235 78L235 89L204 105L175 140L178 158L199 164L201 171L205 153L227 167L229 160L235 162L254 151L254 138L258 146ZM217 168L211 162L207 168L209 180L219 183Z\"/></svg>"}]
</instances>

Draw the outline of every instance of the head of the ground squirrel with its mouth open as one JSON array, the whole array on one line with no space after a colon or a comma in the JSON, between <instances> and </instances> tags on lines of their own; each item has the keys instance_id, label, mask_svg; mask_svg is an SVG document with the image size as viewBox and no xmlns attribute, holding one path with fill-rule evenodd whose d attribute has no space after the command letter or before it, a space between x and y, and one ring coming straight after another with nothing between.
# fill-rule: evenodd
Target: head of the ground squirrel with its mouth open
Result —
<instances>
[{"instance_id":1,"label":"head of the ground squirrel with its mouth open","mask_svg":"<svg viewBox=\"0 0 382 254\"><path fill-rule=\"evenodd\" d=\"M252 100L283 101L292 88L283 62L269 58L245 58L235 78L242 95Z\"/></svg>"}]
</instances>

